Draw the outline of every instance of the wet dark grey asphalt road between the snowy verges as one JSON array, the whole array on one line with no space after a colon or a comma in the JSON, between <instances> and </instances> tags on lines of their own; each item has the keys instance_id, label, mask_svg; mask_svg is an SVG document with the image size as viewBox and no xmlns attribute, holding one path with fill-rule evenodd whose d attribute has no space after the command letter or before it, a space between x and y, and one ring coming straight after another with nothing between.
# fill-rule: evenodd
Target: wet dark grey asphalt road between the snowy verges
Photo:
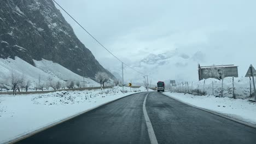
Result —
<instances>
[{"instance_id":1,"label":"wet dark grey asphalt road between the snowy verges","mask_svg":"<svg viewBox=\"0 0 256 144\"><path fill-rule=\"evenodd\" d=\"M138 93L17 143L150 143ZM158 143L255 143L256 129L150 92L146 110Z\"/></svg>"}]
</instances>

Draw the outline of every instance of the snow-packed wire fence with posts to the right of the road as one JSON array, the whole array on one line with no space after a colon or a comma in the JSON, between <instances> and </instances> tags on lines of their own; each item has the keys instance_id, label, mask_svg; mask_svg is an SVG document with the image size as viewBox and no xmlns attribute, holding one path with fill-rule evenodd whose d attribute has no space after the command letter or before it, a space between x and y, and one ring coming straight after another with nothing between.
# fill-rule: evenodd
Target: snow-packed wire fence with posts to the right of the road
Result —
<instances>
[{"instance_id":1,"label":"snow-packed wire fence with posts to the right of the road","mask_svg":"<svg viewBox=\"0 0 256 144\"><path fill-rule=\"evenodd\" d=\"M170 87L170 91L246 99L252 98L252 85L250 77L225 77L223 80L210 78L197 82L180 82Z\"/></svg>"}]
</instances>

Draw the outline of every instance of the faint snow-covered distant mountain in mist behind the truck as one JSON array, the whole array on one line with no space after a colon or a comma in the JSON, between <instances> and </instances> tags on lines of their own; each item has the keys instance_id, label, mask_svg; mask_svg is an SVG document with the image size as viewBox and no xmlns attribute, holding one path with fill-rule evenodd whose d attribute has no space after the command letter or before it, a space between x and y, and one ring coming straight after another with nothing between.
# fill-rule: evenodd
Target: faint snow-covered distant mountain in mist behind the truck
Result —
<instances>
[{"instance_id":1,"label":"faint snow-covered distant mountain in mist behind the truck","mask_svg":"<svg viewBox=\"0 0 256 144\"><path fill-rule=\"evenodd\" d=\"M155 85L157 81L166 80L192 81L197 80L197 63L203 62L204 59L205 53L201 51L185 53L176 49L165 53L150 53L141 61L135 62L132 67L149 75L148 81L150 83L152 80L152 85ZM130 77L131 75L134 74L130 74ZM135 75L135 77L137 79L132 81L143 83L142 75Z\"/></svg>"}]
</instances>

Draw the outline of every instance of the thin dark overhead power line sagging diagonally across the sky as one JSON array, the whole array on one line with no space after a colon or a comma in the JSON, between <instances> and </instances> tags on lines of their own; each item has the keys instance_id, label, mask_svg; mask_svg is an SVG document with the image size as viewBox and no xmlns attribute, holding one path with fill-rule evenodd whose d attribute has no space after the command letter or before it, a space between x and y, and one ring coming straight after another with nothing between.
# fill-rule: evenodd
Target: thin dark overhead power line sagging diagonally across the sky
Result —
<instances>
[{"instance_id":1,"label":"thin dark overhead power line sagging diagonally across the sky","mask_svg":"<svg viewBox=\"0 0 256 144\"><path fill-rule=\"evenodd\" d=\"M77 20L75 20L75 19L73 18L73 16L71 16L64 8L62 8L59 3L57 3L55 0L53 0L53 1L54 1L57 5L59 5L59 7L60 7L63 11L65 11L65 13L66 13L69 17L71 17L80 27L82 27L86 33L88 33L95 41L97 41L98 44L100 44L100 45L101 45L105 50L107 50L112 56L114 56L115 58L117 58L118 61L120 61L121 63L123 63L124 65L126 65L127 67L129 67L130 69L136 71L137 73L139 73L139 74L141 74L141 75L145 75L145 74L141 73L140 71L138 71L138 70L136 70L136 69L130 67L129 65L127 65L127 64L124 63L123 61L121 61L117 56L115 56L115 55L114 55L112 52L110 52L105 46L103 46L103 45L100 43L100 41L98 41L94 36L92 36L82 25L80 25L80 23L79 23ZM152 77L152 78L153 78L153 77ZM153 79L154 79L154 78L153 78ZM155 80L156 80L156 79L155 79Z\"/></svg>"}]
</instances>

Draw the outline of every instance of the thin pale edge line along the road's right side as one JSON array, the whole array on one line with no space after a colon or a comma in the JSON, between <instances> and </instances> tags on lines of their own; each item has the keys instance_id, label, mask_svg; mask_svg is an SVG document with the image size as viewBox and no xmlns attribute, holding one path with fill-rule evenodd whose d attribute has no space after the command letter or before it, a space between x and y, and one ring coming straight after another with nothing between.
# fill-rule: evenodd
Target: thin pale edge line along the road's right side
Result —
<instances>
[{"instance_id":1,"label":"thin pale edge line along the road's right side","mask_svg":"<svg viewBox=\"0 0 256 144\"><path fill-rule=\"evenodd\" d=\"M230 119L231 121L234 121L234 122L237 122L237 123L246 125L246 126L251 127L251 128L256 128L256 125L254 125L254 124L247 123L247 122L241 121L241 120L239 120L239 119L226 116L226 115L224 115L224 113L218 113L218 112L216 112L216 111L208 110L208 109L205 109L205 108L202 108L202 107L199 107L199 106L195 106L195 105L186 103L186 102L184 102L184 101L182 101L182 100L179 100L179 99L174 98L174 97L172 97L172 96L166 95L166 94L164 94L164 93L162 93L162 94L165 95L166 97L169 97L169 98L171 98L171 99L177 100L177 101L179 101L179 102L181 102L181 103L183 103L183 104L185 104L185 105L189 105L189 106L195 107L196 109L200 109L200 110L202 110L202 111L210 112L210 113L212 113L212 114L214 114L214 115L217 115L217 116L220 116L220 117L224 117L224 118L226 118L226 119Z\"/></svg>"}]
</instances>

